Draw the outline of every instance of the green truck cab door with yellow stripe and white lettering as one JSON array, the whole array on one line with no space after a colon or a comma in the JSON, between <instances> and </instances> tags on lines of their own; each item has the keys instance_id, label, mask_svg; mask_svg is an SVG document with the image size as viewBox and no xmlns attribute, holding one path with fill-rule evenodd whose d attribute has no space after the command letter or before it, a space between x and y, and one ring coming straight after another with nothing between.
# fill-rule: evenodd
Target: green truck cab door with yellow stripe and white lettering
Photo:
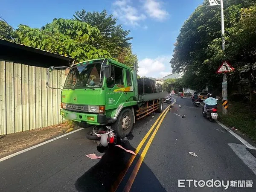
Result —
<instances>
[{"instance_id":1,"label":"green truck cab door with yellow stripe and white lettering","mask_svg":"<svg viewBox=\"0 0 256 192\"><path fill-rule=\"evenodd\" d=\"M127 101L125 90L125 70L111 64L111 77L106 81L106 110L118 108Z\"/></svg>"}]
</instances>

